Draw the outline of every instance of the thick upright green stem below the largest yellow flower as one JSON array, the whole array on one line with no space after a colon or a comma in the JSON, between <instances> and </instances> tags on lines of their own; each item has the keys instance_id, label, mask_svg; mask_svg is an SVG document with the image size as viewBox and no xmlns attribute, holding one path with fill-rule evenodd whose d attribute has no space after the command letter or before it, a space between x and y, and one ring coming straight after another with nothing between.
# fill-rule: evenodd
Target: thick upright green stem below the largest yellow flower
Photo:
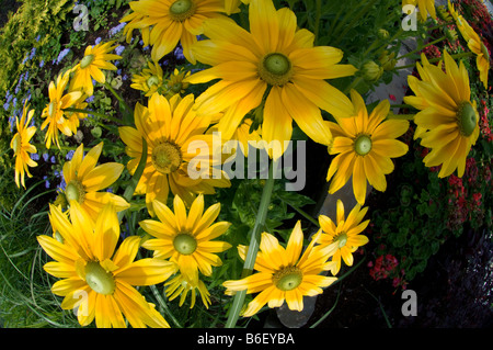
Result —
<instances>
[{"instance_id":1,"label":"thick upright green stem below the largest yellow flower","mask_svg":"<svg viewBox=\"0 0 493 350\"><path fill-rule=\"evenodd\" d=\"M271 204L271 196L274 189L274 171L277 171L278 160L273 160L271 162L271 169L268 170L268 179L265 182L262 197L255 218L255 224L253 225L252 234L250 237L250 245L246 252L246 257L243 263L243 272L241 278L244 279L252 274L253 267L255 264L256 253L259 252L260 240L261 240L261 229L265 225L265 219L267 217L268 205ZM246 290L237 292L234 294L234 300L231 305L228 320L226 321L226 328L234 328L238 318L240 316L241 308L246 295Z\"/></svg>"}]
</instances>

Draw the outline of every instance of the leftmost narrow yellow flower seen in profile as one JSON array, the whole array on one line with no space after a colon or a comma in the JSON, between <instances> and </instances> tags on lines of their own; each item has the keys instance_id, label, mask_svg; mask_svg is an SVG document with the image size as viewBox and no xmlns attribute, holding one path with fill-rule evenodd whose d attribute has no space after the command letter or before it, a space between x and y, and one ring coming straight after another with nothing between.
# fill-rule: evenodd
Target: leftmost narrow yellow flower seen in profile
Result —
<instances>
[{"instance_id":1,"label":"leftmost narrow yellow flower seen in profile","mask_svg":"<svg viewBox=\"0 0 493 350\"><path fill-rule=\"evenodd\" d=\"M36 126L28 126L31 120L34 116L34 110L28 111L27 100L24 102L24 109L22 110L21 121L15 117L15 126L18 133L13 136L10 142L10 148L14 151L15 158L15 184L21 188L21 184L25 189L24 178L25 174L32 178L28 167L36 167L37 163L31 159L30 154L35 154L37 151L36 146L31 145L31 138L33 138L36 133ZM21 181L19 181L19 179Z\"/></svg>"}]
</instances>

